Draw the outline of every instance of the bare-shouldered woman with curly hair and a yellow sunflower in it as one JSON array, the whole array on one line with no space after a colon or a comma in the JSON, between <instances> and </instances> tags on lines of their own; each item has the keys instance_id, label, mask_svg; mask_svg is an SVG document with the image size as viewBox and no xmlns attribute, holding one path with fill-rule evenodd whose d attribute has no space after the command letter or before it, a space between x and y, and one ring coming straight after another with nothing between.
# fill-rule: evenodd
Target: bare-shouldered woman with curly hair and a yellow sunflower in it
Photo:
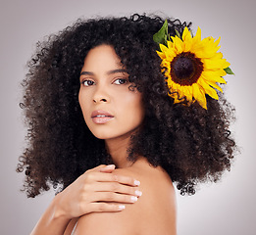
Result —
<instances>
[{"instance_id":1,"label":"bare-shouldered woman with curly hair and a yellow sunflower in it","mask_svg":"<svg viewBox=\"0 0 256 235\"><path fill-rule=\"evenodd\" d=\"M31 234L176 234L172 182L191 195L230 169L230 105L212 88L229 64L217 50L205 59L182 46L198 50L190 24L163 24L139 15L77 21L38 44L24 81L28 147L18 170L26 168L28 197L63 188ZM161 41L161 27L172 37Z\"/></svg>"}]
</instances>

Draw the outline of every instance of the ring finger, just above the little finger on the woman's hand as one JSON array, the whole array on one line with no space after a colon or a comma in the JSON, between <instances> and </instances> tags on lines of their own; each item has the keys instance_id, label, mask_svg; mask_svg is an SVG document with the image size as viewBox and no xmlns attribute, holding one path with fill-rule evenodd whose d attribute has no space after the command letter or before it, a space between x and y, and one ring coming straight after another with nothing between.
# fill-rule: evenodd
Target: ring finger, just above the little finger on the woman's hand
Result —
<instances>
[{"instance_id":1,"label":"ring finger, just above the little finger on the woman's hand","mask_svg":"<svg viewBox=\"0 0 256 235\"><path fill-rule=\"evenodd\" d=\"M113 192L95 192L90 195L88 200L91 203L95 202L115 202L133 204L137 202L138 198L135 196L113 193Z\"/></svg>"}]
</instances>

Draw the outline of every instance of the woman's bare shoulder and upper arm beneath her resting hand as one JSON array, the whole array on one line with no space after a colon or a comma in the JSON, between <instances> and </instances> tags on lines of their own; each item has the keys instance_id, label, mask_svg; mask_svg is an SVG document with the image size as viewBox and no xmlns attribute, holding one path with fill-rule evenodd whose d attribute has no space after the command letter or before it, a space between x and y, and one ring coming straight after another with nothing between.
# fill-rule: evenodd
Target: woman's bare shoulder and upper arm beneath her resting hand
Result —
<instances>
[{"instance_id":1,"label":"woman's bare shoulder and upper arm beneath her resting hand","mask_svg":"<svg viewBox=\"0 0 256 235\"><path fill-rule=\"evenodd\" d=\"M84 222L89 227L94 224L101 227L104 234L176 234L175 190L162 167L153 167L142 159L128 168L115 169L113 173L139 180L142 196L136 203L127 204L124 211L90 213L82 216L78 223Z\"/></svg>"}]
</instances>

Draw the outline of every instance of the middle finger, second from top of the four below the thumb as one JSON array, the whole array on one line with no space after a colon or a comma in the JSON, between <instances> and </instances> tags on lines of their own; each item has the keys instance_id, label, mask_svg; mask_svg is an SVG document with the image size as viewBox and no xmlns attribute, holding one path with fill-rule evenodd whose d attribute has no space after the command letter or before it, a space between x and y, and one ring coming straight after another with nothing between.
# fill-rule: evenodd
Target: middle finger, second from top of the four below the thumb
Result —
<instances>
[{"instance_id":1,"label":"middle finger, second from top of the four below the thumb","mask_svg":"<svg viewBox=\"0 0 256 235\"><path fill-rule=\"evenodd\" d=\"M137 187L130 187L119 182L96 182L93 184L95 192L115 192L133 196L141 196L142 192Z\"/></svg>"}]
</instances>

